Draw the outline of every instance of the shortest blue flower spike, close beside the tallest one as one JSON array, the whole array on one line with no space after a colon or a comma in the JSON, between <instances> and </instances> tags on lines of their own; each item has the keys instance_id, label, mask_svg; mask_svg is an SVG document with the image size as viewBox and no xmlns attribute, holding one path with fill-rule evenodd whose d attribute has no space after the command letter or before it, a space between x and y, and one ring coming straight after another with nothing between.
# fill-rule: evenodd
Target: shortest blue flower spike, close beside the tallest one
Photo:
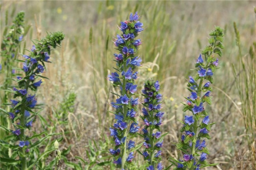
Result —
<instances>
[{"instance_id":1,"label":"shortest blue flower spike, close beside the tallest one","mask_svg":"<svg viewBox=\"0 0 256 170\"><path fill-rule=\"evenodd\" d=\"M142 129L145 142L143 156L148 160L149 167L147 170L162 170L163 166L160 163L161 149L163 139L161 137L160 125L162 124L163 112L161 112L162 95L159 93L160 85L158 81L148 80L144 84L142 90L145 97L143 105L146 108L142 109L145 127ZM158 163L158 164L157 164ZM156 165L157 164L157 165Z\"/></svg>"}]
</instances>

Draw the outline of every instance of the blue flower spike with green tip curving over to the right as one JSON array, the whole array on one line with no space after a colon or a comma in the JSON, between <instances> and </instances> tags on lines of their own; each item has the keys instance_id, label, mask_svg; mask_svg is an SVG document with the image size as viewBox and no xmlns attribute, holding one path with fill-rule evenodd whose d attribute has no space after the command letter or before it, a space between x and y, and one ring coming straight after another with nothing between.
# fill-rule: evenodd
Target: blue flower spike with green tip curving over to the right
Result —
<instances>
[{"instance_id":1,"label":"blue flower spike with green tip curving over to the right","mask_svg":"<svg viewBox=\"0 0 256 170\"><path fill-rule=\"evenodd\" d=\"M26 169L26 157L29 154L29 150L35 146L30 146L30 139L34 138L28 137L26 135L26 130L30 130L33 124L33 120L36 112L33 111L33 108L37 105L37 100L35 95L32 95L30 90L37 91L37 88L42 83L42 75L46 68L45 63L50 63L48 60L51 54L51 47L56 48L60 45L61 41L65 37L61 32L55 32L53 34L48 34L44 39L39 41L38 44L33 45L30 50L29 55L23 55L25 62L23 63L23 68L16 70L23 71L25 73L24 77L17 77L18 89L13 88L15 100L11 100L11 105L14 112L9 113L10 119L14 130L12 131L14 138L12 138L9 145L13 148L13 158L19 156L18 164L21 166L20 169ZM38 78L40 80L38 81ZM18 142L19 147L15 147L13 143Z\"/></svg>"}]
</instances>

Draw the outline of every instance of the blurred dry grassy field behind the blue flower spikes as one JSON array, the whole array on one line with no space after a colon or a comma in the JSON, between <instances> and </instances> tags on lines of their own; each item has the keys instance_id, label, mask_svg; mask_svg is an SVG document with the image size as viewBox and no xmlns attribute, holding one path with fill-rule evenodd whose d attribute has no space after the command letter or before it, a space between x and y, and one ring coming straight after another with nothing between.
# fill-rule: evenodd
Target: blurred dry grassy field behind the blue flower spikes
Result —
<instances>
[{"instance_id":1,"label":"blurred dry grassy field behind the blue flower spikes","mask_svg":"<svg viewBox=\"0 0 256 170\"><path fill-rule=\"evenodd\" d=\"M160 81L166 113L162 131L169 132L164 138L162 154L167 167L168 156L181 156L172 142L177 142L181 135L182 125L176 119L184 117L181 102L189 95L186 79L195 74L190 69L194 68L200 50L208 45L209 32L214 26L224 28L225 49L219 59L221 68L214 75L214 86L219 89L214 88L213 104L206 108L211 121L217 122L210 132L212 139L208 140L209 162L220 163L215 167L218 169L250 169L250 150L240 113L242 101L234 83L232 65L239 72L233 22L240 31L243 57L255 41L253 6L256 6L255 1L2 1L1 35L5 11L13 8L16 12L25 11L27 24L32 24L26 39L27 49L32 46L30 39L42 37L46 32L66 34L61 49L54 51L52 64L44 73L50 80L44 81L43 88L38 91L40 102L46 104L41 115L46 120L54 120L53 108L58 108L70 92L75 92L75 111L67 118L71 133L65 134L60 146L71 146L69 160L75 162L74 156L88 160L86 146L89 141L102 142L97 145L104 150L110 147L107 134L113 115L107 111L112 110L109 103L114 96L110 92L114 89L106 77L114 71L112 67L115 65L112 60L116 50L112 41L117 33L120 34L117 27L120 21L138 11L144 31L139 35L143 43L138 53L143 66L139 69L137 83L141 89L145 79ZM89 43L90 28L93 29L92 45ZM37 121L33 128L40 132L43 127ZM57 129L58 132L62 130L61 127ZM99 162L102 156L106 154L99 153L95 161ZM137 158L141 159L139 155Z\"/></svg>"}]
</instances>

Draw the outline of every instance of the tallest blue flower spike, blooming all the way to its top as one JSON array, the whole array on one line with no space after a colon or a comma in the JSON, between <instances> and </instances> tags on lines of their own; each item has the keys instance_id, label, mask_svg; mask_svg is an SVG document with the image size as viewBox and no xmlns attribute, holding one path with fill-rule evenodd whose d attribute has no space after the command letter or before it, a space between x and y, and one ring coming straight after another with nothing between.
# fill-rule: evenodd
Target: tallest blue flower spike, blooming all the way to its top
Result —
<instances>
[{"instance_id":1,"label":"tallest blue flower spike, blooming all the way to its top","mask_svg":"<svg viewBox=\"0 0 256 170\"><path fill-rule=\"evenodd\" d=\"M110 153L114 157L113 163L117 168L122 169L134 167L132 162L134 155L131 149L134 148L135 142L130 139L136 137L136 132L140 129L135 118L139 99L133 99L137 91L134 80L138 78L138 72L134 70L142 61L135 55L141 44L140 39L135 38L143 30L143 24L138 19L139 15L136 12L134 15L130 14L129 21L121 22L119 28L122 34L117 34L114 42L119 50L119 54L114 54L117 72L108 75L109 80L113 82L113 87L120 89L120 95L115 94L118 99L111 103L116 109L114 113L116 123L110 128L110 136L114 141L114 149L110 149Z\"/></svg>"}]
</instances>

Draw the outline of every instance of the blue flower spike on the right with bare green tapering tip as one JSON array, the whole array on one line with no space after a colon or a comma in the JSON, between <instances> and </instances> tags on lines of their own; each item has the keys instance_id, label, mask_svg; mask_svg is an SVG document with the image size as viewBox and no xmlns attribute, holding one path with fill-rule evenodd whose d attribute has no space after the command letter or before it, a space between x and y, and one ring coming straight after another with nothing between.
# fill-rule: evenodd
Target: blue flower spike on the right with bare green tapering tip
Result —
<instances>
[{"instance_id":1,"label":"blue flower spike on the right with bare green tapering tip","mask_svg":"<svg viewBox=\"0 0 256 170\"><path fill-rule=\"evenodd\" d=\"M170 162L174 164L175 169L199 170L200 168L213 166L216 164L208 164L207 156L210 154L206 147L205 138L210 139L209 131L215 123L210 123L208 112L205 111L205 104L211 104L211 92L213 88L213 73L218 67L218 58L214 54L222 56L220 49L223 49L223 29L215 27L210 33L210 45L202 50L204 60L199 55L195 67L196 76L189 76L188 90L190 96L186 98L183 111L190 111L191 116L185 116L181 121L183 135L176 147L184 152L183 160L175 160L170 158Z\"/></svg>"}]
</instances>

